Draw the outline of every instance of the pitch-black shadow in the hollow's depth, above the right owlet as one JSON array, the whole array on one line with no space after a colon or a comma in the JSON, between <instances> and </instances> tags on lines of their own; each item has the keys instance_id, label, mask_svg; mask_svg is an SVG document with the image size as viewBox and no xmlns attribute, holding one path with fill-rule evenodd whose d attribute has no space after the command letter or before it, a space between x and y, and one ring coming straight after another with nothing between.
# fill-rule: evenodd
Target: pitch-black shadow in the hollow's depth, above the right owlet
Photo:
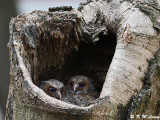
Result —
<instances>
[{"instance_id":1,"label":"pitch-black shadow in the hollow's depth, above the right owlet","mask_svg":"<svg viewBox=\"0 0 160 120\"><path fill-rule=\"evenodd\" d=\"M97 42L82 42L78 51L66 60L59 79L66 84L74 75L86 75L93 79L95 89L100 93L115 52L116 41L116 35L109 32L108 35L100 33Z\"/></svg>"}]
</instances>

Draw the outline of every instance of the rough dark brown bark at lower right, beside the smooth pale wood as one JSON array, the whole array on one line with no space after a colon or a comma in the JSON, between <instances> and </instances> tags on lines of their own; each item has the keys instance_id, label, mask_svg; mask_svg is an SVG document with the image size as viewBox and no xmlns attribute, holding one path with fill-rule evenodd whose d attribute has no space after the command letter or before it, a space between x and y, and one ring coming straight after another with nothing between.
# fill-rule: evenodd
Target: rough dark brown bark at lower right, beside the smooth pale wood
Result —
<instances>
[{"instance_id":1,"label":"rough dark brown bark at lower right, beside the smooth pale wood","mask_svg":"<svg viewBox=\"0 0 160 120\"><path fill-rule=\"evenodd\" d=\"M150 61L143 89L128 104L125 118L153 119L155 116L160 116L160 51Z\"/></svg>"}]
</instances>

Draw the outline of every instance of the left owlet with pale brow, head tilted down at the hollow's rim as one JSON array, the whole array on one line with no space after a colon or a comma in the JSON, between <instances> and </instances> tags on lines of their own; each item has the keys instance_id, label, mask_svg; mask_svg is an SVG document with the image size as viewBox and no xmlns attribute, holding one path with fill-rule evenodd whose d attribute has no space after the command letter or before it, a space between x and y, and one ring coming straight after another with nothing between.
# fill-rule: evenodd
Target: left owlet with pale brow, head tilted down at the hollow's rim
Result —
<instances>
[{"instance_id":1,"label":"left owlet with pale brow, head tilted down at the hollow's rim","mask_svg":"<svg viewBox=\"0 0 160 120\"><path fill-rule=\"evenodd\" d=\"M40 84L40 88L49 96L54 97L56 99L62 100L66 96L65 86L62 82L49 79L47 81L42 81Z\"/></svg>"}]
</instances>

